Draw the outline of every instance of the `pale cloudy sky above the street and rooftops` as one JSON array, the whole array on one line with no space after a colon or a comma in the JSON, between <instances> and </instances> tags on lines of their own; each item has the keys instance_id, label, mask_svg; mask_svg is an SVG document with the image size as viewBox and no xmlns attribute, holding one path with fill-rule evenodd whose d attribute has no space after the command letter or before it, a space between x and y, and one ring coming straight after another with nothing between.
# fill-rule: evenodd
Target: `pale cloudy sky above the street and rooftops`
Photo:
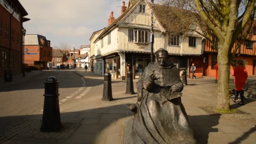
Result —
<instances>
[{"instance_id":1,"label":"pale cloudy sky above the street and rooftops","mask_svg":"<svg viewBox=\"0 0 256 144\"><path fill-rule=\"evenodd\" d=\"M109 15L121 14L128 0L19 0L30 20L24 22L26 35L38 34L51 40L51 47L80 48L90 45L93 32L107 27Z\"/></svg>"}]
</instances>

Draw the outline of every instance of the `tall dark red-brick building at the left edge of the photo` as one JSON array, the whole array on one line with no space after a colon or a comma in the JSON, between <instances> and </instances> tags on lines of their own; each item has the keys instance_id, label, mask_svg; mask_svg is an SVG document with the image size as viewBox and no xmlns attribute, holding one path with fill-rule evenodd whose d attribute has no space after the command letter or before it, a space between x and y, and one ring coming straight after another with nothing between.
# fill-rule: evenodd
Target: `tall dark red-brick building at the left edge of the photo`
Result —
<instances>
[{"instance_id":1,"label":"tall dark red-brick building at the left edge of the photo","mask_svg":"<svg viewBox=\"0 0 256 144\"><path fill-rule=\"evenodd\" d=\"M0 77L5 71L22 72L21 29L27 15L19 0L0 0Z\"/></svg>"}]
</instances>

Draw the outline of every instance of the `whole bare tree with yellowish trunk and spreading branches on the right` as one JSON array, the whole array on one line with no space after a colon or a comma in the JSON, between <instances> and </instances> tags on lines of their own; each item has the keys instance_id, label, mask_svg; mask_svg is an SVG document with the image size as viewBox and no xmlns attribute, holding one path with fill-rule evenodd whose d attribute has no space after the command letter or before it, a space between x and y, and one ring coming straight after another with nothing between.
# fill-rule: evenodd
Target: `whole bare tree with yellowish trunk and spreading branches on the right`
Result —
<instances>
[{"instance_id":1,"label":"whole bare tree with yellowish trunk and spreading branches on the right","mask_svg":"<svg viewBox=\"0 0 256 144\"><path fill-rule=\"evenodd\" d=\"M195 13L187 19L184 18L184 14L172 11L173 8L167 11L177 18L193 19L193 23L199 26L200 30L187 28L184 23L180 24L187 30L202 35L215 46L219 64L216 108L230 109L230 65L235 65L235 57L240 53L241 44L248 38L254 25L256 0L157 0L157 3ZM233 48L234 44L235 48Z\"/></svg>"}]
</instances>

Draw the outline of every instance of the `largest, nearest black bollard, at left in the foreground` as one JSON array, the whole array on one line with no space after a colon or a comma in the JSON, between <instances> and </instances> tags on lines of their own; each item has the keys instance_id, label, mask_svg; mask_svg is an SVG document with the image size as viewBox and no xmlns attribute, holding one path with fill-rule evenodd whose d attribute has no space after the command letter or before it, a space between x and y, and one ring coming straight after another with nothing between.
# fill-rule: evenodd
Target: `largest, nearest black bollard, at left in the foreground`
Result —
<instances>
[{"instance_id":1,"label":"largest, nearest black bollard, at left in the foreground","mask_svg":"<svg viewBox=\"0 0 256 144\"><path fill-rule=\"evenodd\" d=\"M55 77L45 80L45 100L40 131L57 132L61 129L59 112L59 81Z\"/></svg>"}]
</instances>

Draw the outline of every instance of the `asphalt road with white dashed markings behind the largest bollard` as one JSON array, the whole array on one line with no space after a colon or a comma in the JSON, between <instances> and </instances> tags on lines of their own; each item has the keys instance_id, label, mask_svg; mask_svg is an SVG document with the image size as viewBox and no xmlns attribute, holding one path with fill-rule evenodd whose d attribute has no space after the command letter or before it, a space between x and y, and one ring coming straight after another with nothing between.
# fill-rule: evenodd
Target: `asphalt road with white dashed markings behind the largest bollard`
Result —
<instances>
[{"instance_id":1,"label":"asphalt road with white dashed markings behind the largest bollard","mask_svg":"<svg viewBox=\"0 0 256 144\"><path fill-rule=\"evenodd\" d=\"M54 76L59 80L60 105L78 101L85 81L72 70L44 71L42 74L24 80L11 86L0 88L0 129L9 127L30 119L32 115L42 113L44 102L44 81ZM65 99L68 97L69 99Z\"/></svg>"}]
</instances>

